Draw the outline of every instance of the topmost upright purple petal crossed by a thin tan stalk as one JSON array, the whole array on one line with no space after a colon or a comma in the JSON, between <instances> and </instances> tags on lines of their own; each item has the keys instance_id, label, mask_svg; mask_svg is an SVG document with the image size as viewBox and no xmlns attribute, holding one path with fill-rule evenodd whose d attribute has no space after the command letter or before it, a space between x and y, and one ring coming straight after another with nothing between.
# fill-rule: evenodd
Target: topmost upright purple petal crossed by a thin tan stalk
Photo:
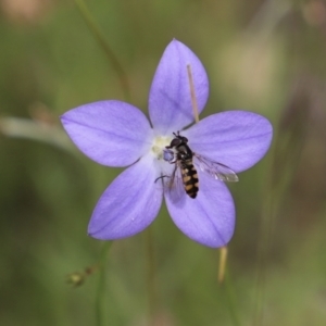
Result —
<instances>
[{"instance_id":1,"label":"topmost upright purple petal crossed by a thin tan stalk","mask_svg":"<svg viewBox=\"0 0 326 326\"><path fill-rule=\"evenodd\" d=\"M150 118L160 135L172 134L193 122L188 64L199 113L206 103L209 80L202 63L184 43L173 40L159 63L149 96Z\"/></svg>"}]
</instances>

